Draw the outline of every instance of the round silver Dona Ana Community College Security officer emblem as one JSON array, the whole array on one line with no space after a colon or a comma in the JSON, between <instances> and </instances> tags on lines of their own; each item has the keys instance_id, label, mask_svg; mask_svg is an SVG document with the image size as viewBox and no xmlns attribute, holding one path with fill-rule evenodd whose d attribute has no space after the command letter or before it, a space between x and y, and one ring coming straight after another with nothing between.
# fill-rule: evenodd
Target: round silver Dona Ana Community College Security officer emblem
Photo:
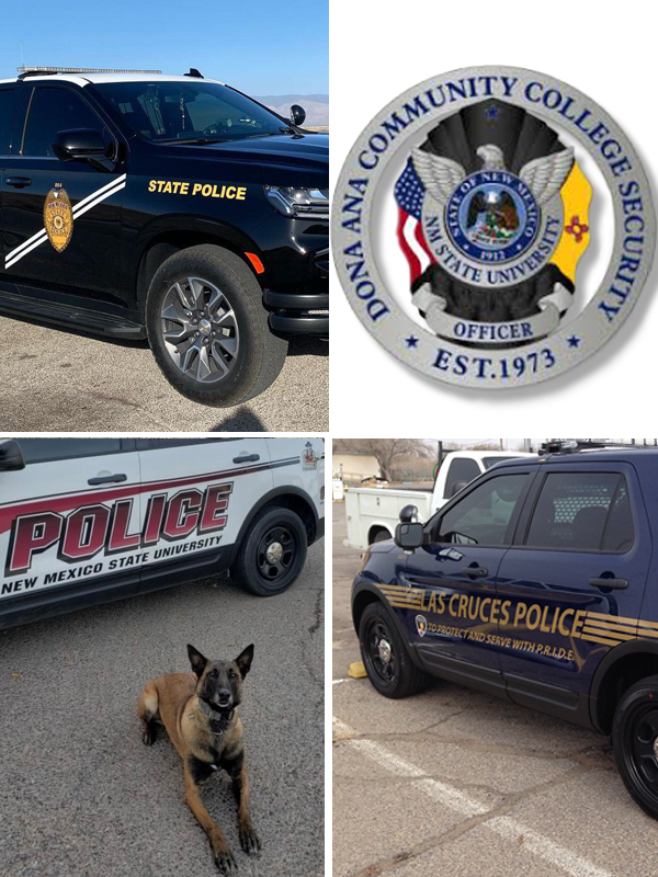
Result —
<instances>
[{"instance_id":1,"label":"round silver Dona Ana Community College Security officer emblem","mask_svg":"<svg viewBox=\"0 0 658 877\"><path fill-rule=\"evenodd\" d=\"M586 153L612 200L608 248ZM406 288L383 280L392 241L373 234L379 195L395 200ZM609 261L588 294L578 266L590 240ZM481 67L410 89L360 135L333 200L332 247L350 304L398 360L501 388L558 375L622 326L651 266L655 215L637 155L600 106L541 73Z\"/></svg>"}]
</instances>

